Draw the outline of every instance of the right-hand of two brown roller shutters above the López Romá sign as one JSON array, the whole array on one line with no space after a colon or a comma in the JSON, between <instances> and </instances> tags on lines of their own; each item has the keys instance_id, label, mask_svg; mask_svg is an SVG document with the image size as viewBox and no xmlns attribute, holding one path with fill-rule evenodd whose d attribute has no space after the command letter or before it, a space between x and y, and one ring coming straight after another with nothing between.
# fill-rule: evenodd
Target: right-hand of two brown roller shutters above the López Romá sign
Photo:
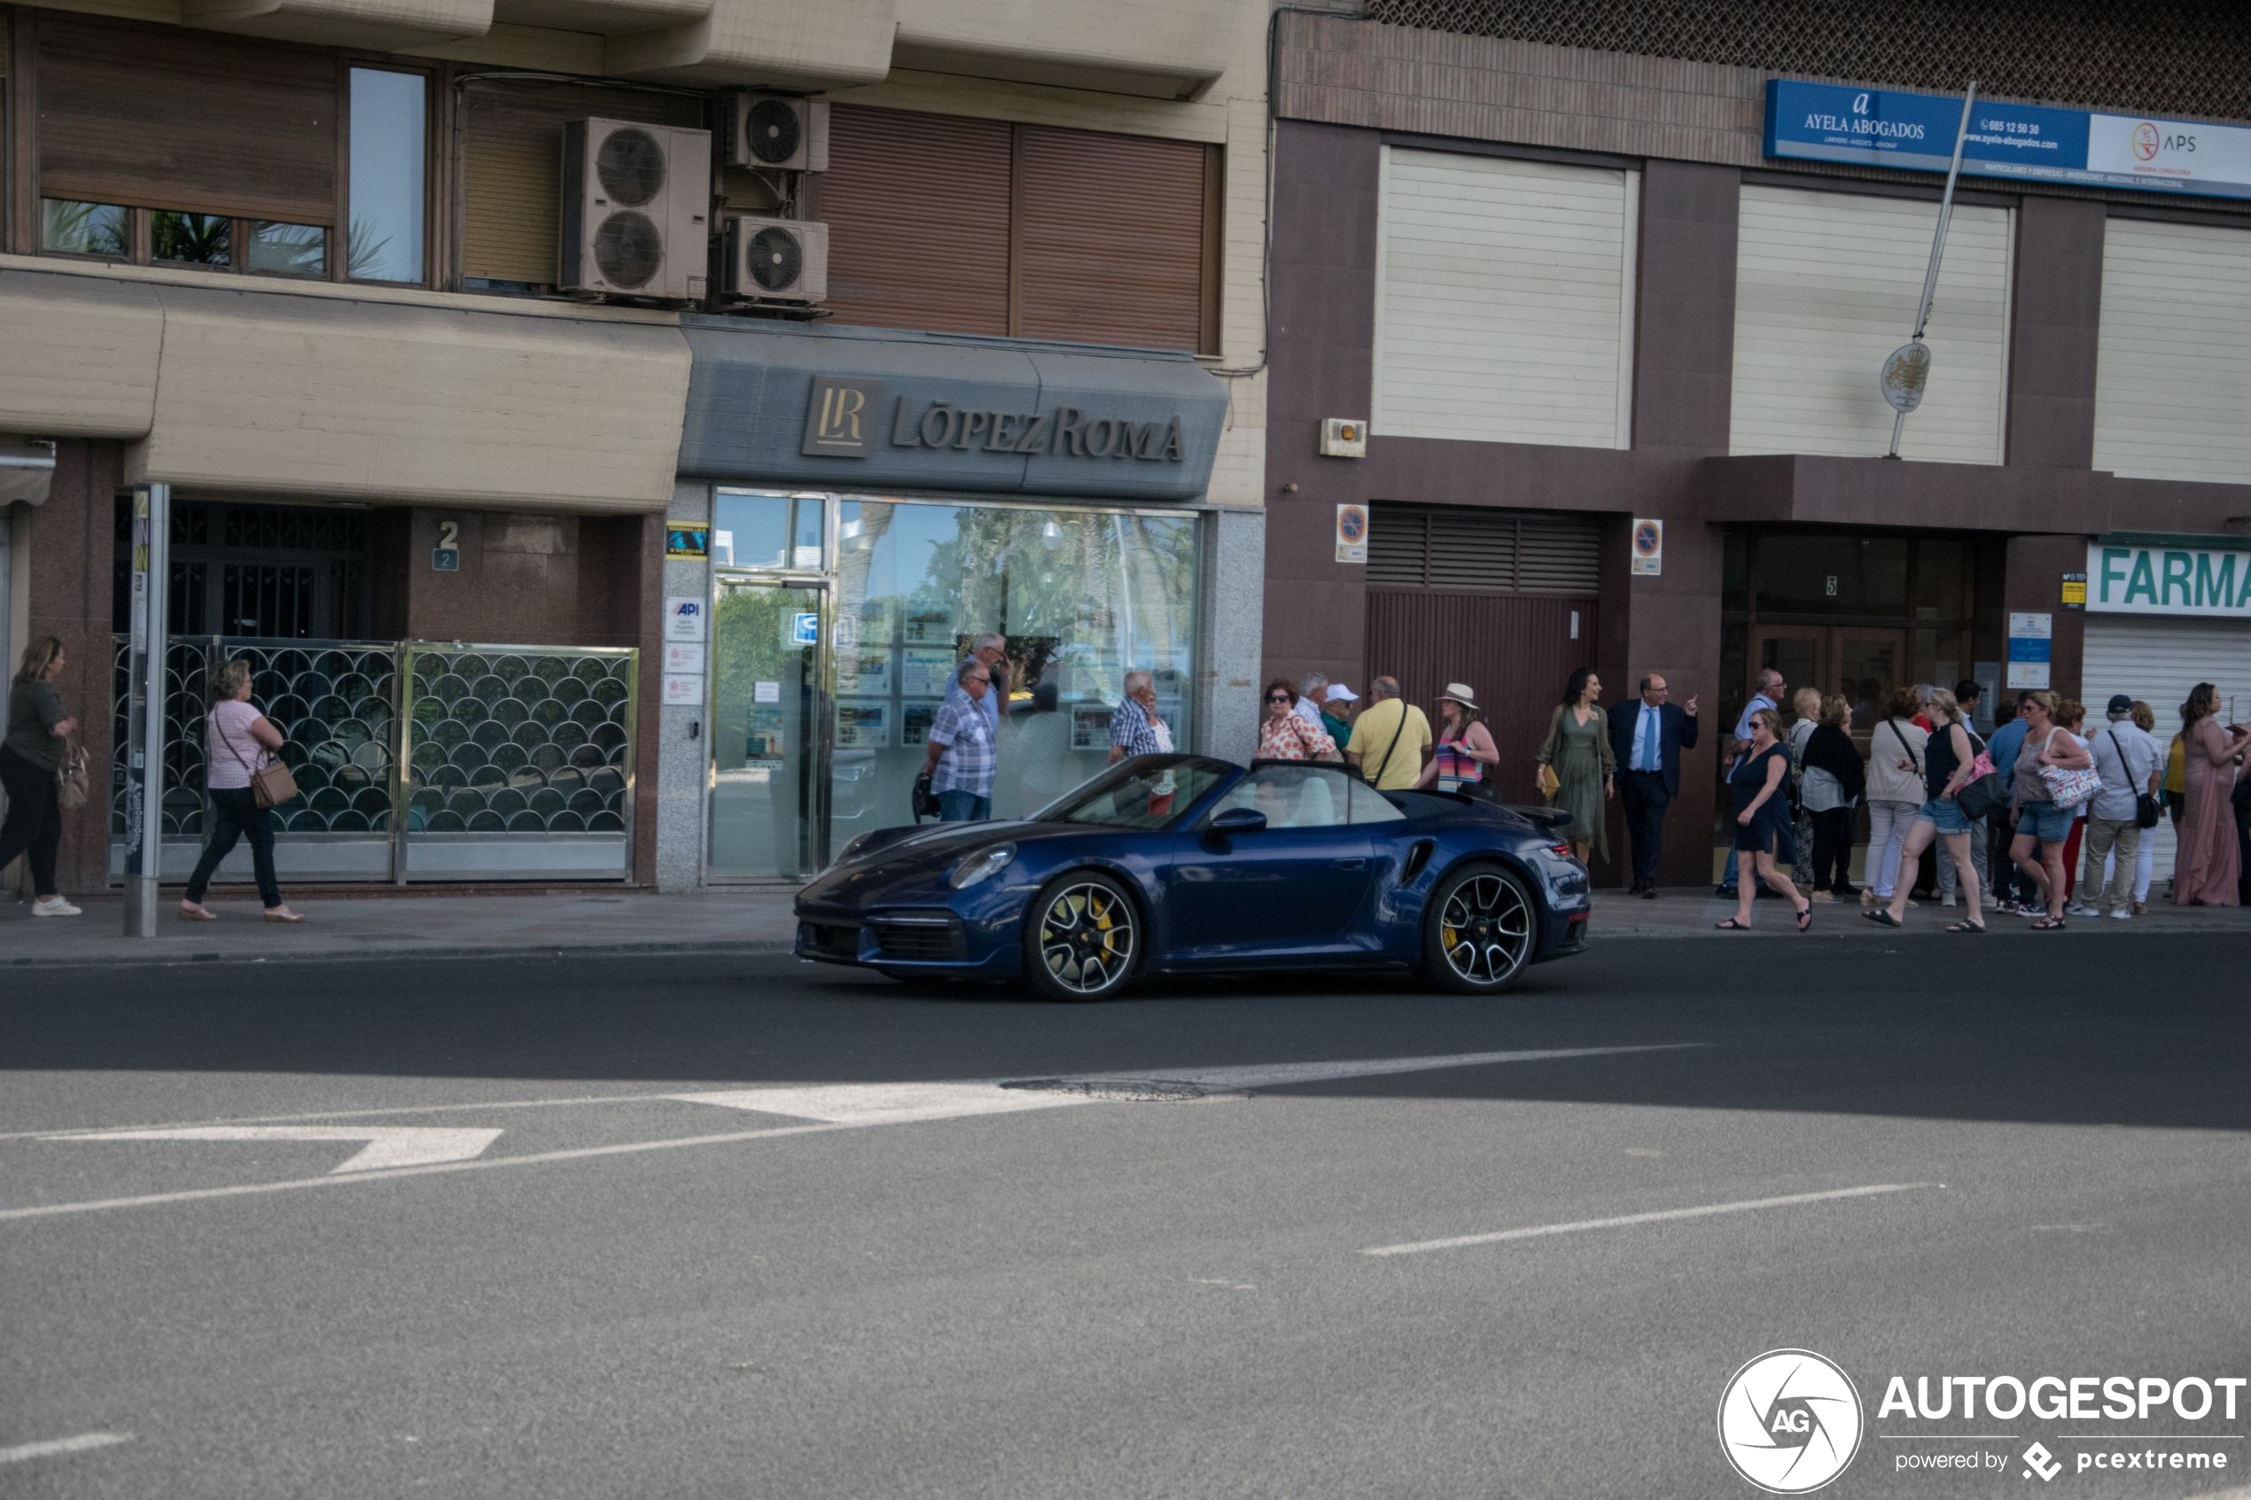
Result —
<instances>
[{"instance_id":1,"label":"right-hand of two brown roller shutters above the L\u00f3pez Rom\u00e1 sign","mask_svg":"<svg viewBox=\"0 0 2251 1500\"><path fill-rule=\"evenodd\" d=\"M1017 331L1200 349L1209 146L1022 128Z\"/></svg>"}]
</instances>

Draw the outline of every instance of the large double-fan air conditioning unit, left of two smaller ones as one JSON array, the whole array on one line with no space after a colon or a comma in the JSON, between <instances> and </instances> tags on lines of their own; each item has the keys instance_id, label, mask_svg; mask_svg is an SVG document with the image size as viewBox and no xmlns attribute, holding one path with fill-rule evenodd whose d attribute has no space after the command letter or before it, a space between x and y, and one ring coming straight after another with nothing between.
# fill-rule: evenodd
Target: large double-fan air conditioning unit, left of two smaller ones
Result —
<instances>
[{"instance_id":1,"label":"large double-fan air conditioning unit, left of two smaller ones","mask_svg":"<svg viewBox=\"0 0 2251 1500\"><path fill-rule=\"evenodd\" d=\"M565 292L693 301L711 265L711 137L630 119L563 126Z\"/></svg>"}]
</instances>

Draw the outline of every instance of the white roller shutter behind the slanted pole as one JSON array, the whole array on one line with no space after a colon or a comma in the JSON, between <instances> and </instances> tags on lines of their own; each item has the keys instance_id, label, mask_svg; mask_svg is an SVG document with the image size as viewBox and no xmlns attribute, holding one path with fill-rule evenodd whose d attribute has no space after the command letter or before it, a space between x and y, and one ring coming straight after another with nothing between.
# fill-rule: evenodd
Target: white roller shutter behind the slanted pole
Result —
<instances>
[{"instance_id":1,"label":"white roller shutter behind the slanted pole","mask_svg":"<svg viewBox=\"0 0 2251 1500\"><path fill-rule=\"evenodd\" d=\"M1729 452L1891 445L1875 378L1916 326L1936 218L1936 205L1907 198L1742 189ZM1931 382L1900 445L1909 459L2001 463L2012 234L2008 209L1954 207L1925 335Z\"/></svg>"}]
</instances>

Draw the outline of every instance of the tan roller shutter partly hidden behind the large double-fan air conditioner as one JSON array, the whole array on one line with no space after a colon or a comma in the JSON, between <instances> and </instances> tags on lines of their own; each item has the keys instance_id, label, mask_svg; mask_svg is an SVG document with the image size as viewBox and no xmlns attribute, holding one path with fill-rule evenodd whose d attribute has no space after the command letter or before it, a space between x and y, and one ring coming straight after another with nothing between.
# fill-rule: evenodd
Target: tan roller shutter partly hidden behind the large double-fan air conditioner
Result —
<instances>
[{"instance_id":1,"label":"tan roller shutter partly hidden behind the large double-fan air conditioner","mask_svg":"<svg viewBox=\"0 0 2251 1500\"><path fill-rule=\"evenodd\" d=\"M700 128L702 99L585 83L477 83L461 115L461 274L554 286L563 126L633 119Z\"/></svg>"}]
</instances>

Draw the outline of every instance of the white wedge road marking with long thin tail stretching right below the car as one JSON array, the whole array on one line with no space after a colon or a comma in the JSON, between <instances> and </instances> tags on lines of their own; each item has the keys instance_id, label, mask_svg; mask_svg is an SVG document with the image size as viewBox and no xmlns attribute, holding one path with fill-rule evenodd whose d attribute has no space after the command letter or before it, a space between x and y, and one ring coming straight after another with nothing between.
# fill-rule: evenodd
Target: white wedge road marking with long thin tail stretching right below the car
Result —
<instances>
[{"instance_id":1,"label":"white wedge road marking with long thin tail stretching right below the car","mask_svg":"<svg viewBox=\"0 0 2251 1500\"><path fill-rule=\"evenodd\" d=\"M1164 1082L1198 1088L1281 1088L1285 1084L1324 1084L1342 1077L1389 1077L1393 1073L1432 1073L1438 1068L1481 1068L1506 1061L1546 1061L1551 1057L1607 1057L1614 1052L1668 1052L1702 1041L1670 1041L1625 1048L1544 1048L1533 1052L1450 1052L1443 1057L1360 1057L1348 1061L1279 1061L1227 1068L1146 1068L1110 1073L1071 1073L1058 1084ZM905 1120L954 1120L961 1115L1006 1115L1026 1109L1060 1109L1092 1104L1083 1093L1042 1093L1008 1088L1004 1079L957 1084L810 1084L725 1088L714 1093L675 1093L689 1104L752 1109L765 1115L826 1120L831 1124L891 1124Z\"/></svg>"}]
</instances>

